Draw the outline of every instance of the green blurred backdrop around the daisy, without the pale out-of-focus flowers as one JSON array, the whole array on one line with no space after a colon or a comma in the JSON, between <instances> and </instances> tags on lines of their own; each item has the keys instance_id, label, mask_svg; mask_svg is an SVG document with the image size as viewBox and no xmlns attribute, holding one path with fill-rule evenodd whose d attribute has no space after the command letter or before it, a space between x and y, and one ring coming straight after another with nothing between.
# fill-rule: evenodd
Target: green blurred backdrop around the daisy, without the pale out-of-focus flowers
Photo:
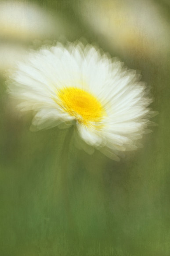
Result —
<instances>
[{"instance_id":1,"label":"green blurred backdrop around the daisy, without the pale out-of-focus flowers","mask_svg":"<svg viewBox=\"0 0 170 256\"><path fill-rule=\"evenodd\" d=\"M168 1L153 3L170 23ZM51 35L50 40L86 38L141 71L151 87L152 109L159 112L152 119L158 126L144 136L143 148L120 162L98 151L88 155L71 140L63 178L66 153L61 148L67 131L30 132L32 113L21 116L11 108L2 72L0 255L170 256L169 49L156 58L118 53L83 23L76 1L37 4L69 24L63 35ZM32 41L19 43L29 48Z\"/></svg>"}]
</instances>

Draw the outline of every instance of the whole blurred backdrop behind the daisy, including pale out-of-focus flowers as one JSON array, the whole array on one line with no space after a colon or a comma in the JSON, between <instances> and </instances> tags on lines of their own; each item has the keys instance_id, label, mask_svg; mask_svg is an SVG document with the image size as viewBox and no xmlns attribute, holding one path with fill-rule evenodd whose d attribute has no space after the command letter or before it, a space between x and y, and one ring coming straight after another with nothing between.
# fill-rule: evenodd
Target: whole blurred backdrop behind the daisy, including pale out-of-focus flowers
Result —
<instances>
[{"instance_id":1,"label":"whole blurred backdrop behind the daisy, including pale out-of-focus flowers","mask_svg":"<svg viewBox=\"0 0 170 256\"><path fill-rule=\"evenodd\" d=\"M141 73L158 124L142 149L114 162L66 130L30 132L6 79L28 49L77 39ZM0 255L170 256L170 2L0 0Z\"/></svg>"}]
</instances>

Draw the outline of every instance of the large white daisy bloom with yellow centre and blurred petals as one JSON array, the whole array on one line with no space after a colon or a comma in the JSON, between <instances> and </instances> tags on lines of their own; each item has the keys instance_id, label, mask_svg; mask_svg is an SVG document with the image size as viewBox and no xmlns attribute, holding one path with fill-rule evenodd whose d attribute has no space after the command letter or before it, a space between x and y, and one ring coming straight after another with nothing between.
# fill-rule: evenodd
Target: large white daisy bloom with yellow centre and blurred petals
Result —
<instances>
[{"instance_id":1,"label":"large white daisy bloom with yellow centre and blurred petals","mask_svg":"<svg viewBox=\"0 0 170 256\"><path fill-rule=\"evenodd\" d=\"M11 79L9 93L20 109L36 113L33 127L74 124L80 142L109 157L136 149L148 126L151 100L140 76L92 45L57 44L29 53Z\"/></svg>"}]
</instances>

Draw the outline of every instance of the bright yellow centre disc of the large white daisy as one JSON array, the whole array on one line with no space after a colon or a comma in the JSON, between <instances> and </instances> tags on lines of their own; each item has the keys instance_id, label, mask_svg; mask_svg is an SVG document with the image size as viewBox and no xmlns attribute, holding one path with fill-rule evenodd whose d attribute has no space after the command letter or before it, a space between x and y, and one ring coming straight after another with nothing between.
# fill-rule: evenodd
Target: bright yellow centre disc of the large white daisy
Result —
<instances>
[{"instance_id":1,"label":"bright yellow centre disc of the large white daisy","mask_svg":"<svg viewBox=\"0 0 170 256\"><path fill-rule=\"evenodd\" d=\"M61 108L70 116L76 117L81 124L100 123L105 115L105 110L99 100L85 90L66 87L59 90L58 98Z\"/></svg>"}]
</instances>

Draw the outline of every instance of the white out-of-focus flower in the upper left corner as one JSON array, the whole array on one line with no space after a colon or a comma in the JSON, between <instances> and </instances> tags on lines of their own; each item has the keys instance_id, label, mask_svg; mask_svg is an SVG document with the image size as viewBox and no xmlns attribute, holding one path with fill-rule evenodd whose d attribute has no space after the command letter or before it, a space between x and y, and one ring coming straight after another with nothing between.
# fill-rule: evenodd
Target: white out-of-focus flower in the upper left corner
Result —
<instances>
[{"instance_id":1,"label":"white out-of-focus flower in the upper left corner","mask_svg":"<svg viewBox=\"0 0 170 256\"><path fill-rule=\"evenodd\" d=\"M46 39L56 31L62 31L61 21L38 5L28 1L0 2L1 38L20 41Z\"/></svg>"}]
</instances>

